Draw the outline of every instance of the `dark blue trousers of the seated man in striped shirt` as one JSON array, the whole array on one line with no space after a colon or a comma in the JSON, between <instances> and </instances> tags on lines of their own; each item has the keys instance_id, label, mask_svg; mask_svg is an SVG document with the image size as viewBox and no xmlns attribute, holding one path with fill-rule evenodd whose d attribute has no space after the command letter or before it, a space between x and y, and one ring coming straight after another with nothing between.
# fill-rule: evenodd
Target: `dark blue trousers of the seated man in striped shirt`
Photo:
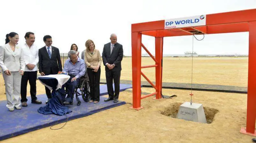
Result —
<instances>
[{"instance_id":1,"label":"dark blue trousers of the seated man in striped shirt","mask_svg":"<svg viewBox=\"0 0 256 143\"><path fill-rule=\"evenodd\" d=\"M66 87L69 91L68 96L67 96L66 99L65 99L65 94L62 94L62 100L63 101L66 100L67 102L72 102L72 99L73 99L73 96L74 96L74 90L80 82L80 78L77 78L75 81L71 82L72 78L74 78L74 77L70 76L69 80L64 85L62 85L62 92L63 93L65 93L64 87Z\"/></svg>"}]
</instances>

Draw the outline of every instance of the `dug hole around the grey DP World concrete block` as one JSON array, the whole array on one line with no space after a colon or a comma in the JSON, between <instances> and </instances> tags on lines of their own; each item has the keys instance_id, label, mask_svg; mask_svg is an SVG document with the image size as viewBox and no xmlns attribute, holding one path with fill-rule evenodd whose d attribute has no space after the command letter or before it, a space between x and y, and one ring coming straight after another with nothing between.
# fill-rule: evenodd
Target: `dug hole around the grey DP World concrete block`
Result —
<instances>
[{"instance_id":1,"label":"dug hole around the grey DP World concrete block","mask_svg":"<svg viewBox=\"0 0 256 143\"><path fill-rule=\"evenodd\" d=\"M170 106L166 107L163 111L161 111L161 114L172 117L172 118L177 118L177 114L179 112L179 106L181 104L182 103L172 103ZM209 107L203 107L203 108L204 108L207 124L211 124L215 114L219 111L217 109L209 108Z\"/></svg>"}]
</instances>

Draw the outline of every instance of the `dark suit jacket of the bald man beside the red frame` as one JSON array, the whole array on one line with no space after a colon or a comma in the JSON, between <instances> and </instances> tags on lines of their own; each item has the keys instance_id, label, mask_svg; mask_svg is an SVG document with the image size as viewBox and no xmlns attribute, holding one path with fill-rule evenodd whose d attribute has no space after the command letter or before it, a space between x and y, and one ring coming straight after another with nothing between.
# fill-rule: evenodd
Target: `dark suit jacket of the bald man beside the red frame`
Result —
<instances>
[{"instance_id":1,"label":"dark suit jacket of the bald man beside the red frame","mask_svg":"<svg viewBox=\"0 0 256 143\"><path fill-rule=\"evenodd\" d=\"M105 70L109 71L106 66L108 64L115 64L112 71L121 71L121 61L123 59L123 46L119 43L114 44L112 53L110 54L110 42L104 45L102 52L103 64L105 65Z\"/></svg>"}]
</instances>

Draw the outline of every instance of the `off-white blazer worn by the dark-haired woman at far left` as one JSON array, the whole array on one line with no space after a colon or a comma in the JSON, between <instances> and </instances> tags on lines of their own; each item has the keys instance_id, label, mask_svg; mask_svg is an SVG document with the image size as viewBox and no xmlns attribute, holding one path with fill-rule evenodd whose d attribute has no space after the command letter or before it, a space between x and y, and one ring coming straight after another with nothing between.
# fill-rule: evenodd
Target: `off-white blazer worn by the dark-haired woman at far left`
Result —
<instances>
[{"instance_id":1,"label":"off-white blazer worn by the dark-haired woman at far left","mask_svg":"<svg viewBox=\"0 0 256 143\"><path fill-rule=\"evenodd\" d=\"M16 45L15 51L12 51L9 43L0 46L0 66L3 71L25 71L25 57L22 47Z\"/></svg>"}]
</instances>

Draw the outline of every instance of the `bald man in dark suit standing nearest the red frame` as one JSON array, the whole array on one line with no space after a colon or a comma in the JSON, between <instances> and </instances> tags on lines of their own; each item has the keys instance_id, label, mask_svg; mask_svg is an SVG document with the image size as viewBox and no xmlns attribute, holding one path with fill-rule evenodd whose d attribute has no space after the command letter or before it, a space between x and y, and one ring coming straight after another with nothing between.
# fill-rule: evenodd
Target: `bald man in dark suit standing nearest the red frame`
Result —
<instances>
[{"instance_id":1,"label":"bald man in dark suit standing nearest the red frame","mask_svg":"<svg viewBox=\"0 0 256 143\"><path fill-rule=\"evenodd\" d=\"M121 76L121 61L123 59L123 46L117 43L117 36L111 34L110 43L104 45L102 52L103 64L106 71L107 93L108 99L104 101L114 100L118 102L120 90L120 76ZM115 93L113 91L113 79L115 85Z\"/></svg>"}]
</instances>

